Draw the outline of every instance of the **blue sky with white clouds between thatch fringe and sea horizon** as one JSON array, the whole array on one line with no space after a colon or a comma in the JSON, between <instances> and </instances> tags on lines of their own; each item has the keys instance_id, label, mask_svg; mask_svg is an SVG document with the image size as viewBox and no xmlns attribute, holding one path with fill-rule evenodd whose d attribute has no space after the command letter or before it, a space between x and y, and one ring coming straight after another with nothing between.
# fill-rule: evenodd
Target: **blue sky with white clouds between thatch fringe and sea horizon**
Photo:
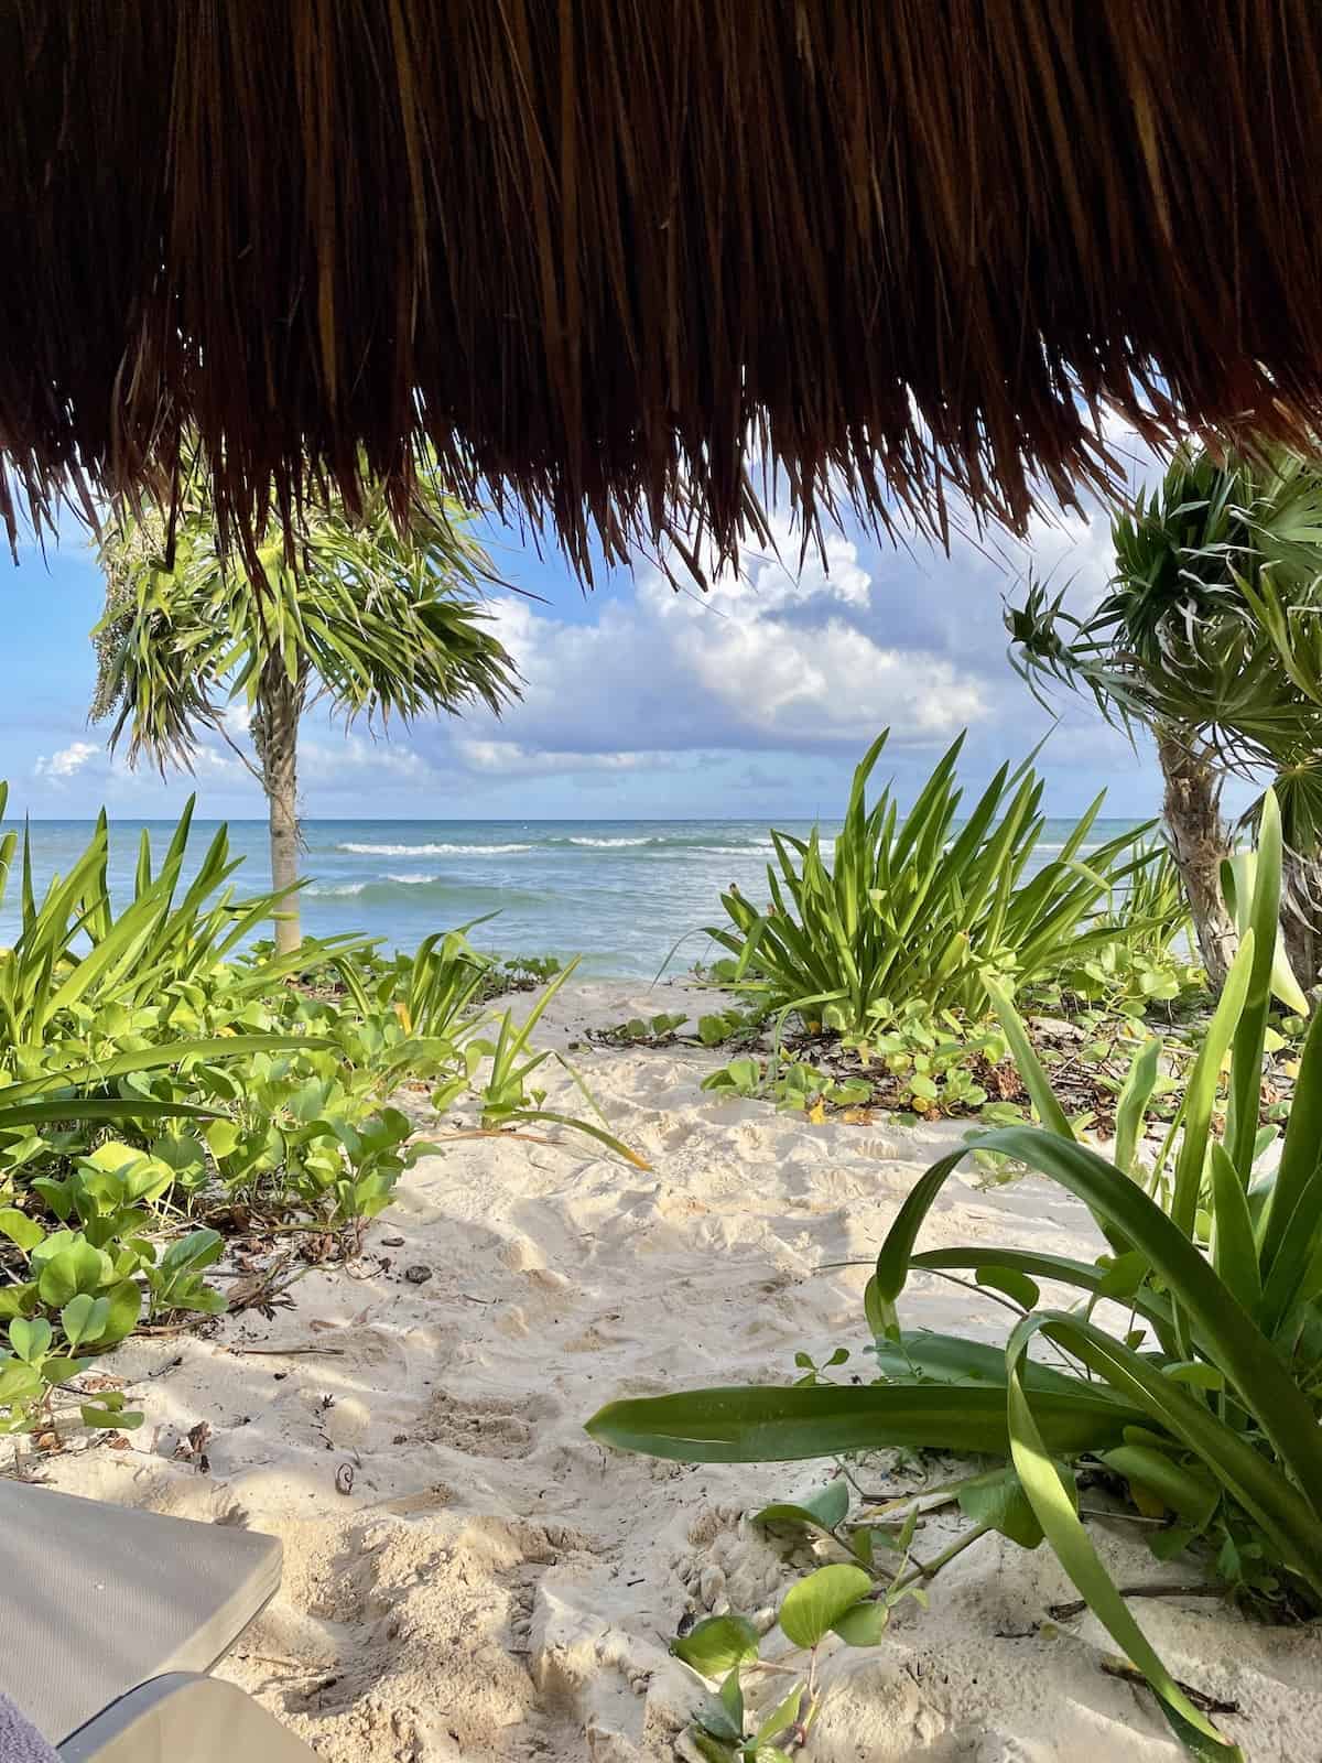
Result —
<instances>
[{"instance_id":1,"label":"blue sky with white clouds between thatch fringe and sea horizon","mask_svg":"<svg viewBox=\"0 0 1322 1763\"><path fill-rule=\"evenodd\" d=\"M1035 524L1028 545L999 539L1001 557L966 541L950 557L922 543L906 554L851 525L828 536L827 569L809 555L795 577L751 555L703 598L638 564L585 596L553 550L538 555L504 527L485 538L501 575L539 596L492 603L524 702L501 721L441 718L390 739L314 710L301 742L308 818L830 818L887 725L901 786L962 726L977 783L1052 726L1006 661L1003 596L1029 561L1081 601L1102 592L1109 568L1105 522L1079 517ZM797 562L788 524L781 555ZM100 591L78 529L46 557L33 547L18 564L0 557L11 813L83 816L104 802L116 818L148 818L196 788L204 816L261 815L256 785L215 739L194 779L162 781L106 753L106 730L86 723ZM1107 788L1105 813L1156 813L1151 755L1079 700L1063 696L1059 710L1040 760L1049 811L1075 813Z\"/></svg>"}]
</instances>

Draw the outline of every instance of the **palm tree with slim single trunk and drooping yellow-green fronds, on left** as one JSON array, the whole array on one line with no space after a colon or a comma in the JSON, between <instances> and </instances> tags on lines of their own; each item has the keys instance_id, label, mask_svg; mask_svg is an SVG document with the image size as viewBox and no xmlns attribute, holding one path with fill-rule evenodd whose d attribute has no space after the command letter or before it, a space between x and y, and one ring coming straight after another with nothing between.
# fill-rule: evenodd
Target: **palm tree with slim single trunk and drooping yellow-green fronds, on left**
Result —
<instances>
[{"instance_id":1,"label":"palm tree with slim single trunk and drooping yellow-green fronds, on left","mask_svg":"<svg viewBox=\"0 0 1322 1763\"><path fill-rule=\"evenodd\" d=\"M220 733L261 783L270 809L271 882L298 880L298 723L328 702L347 719L405 723L472 703L499 710L518 695L504 647L472 596L494 582L457 510L420 488L397 524L375 492L360 513L308 499L296 559L273 538L243 562L222 554L212 499L192 478L176 518L173 564L153 511L120 510L100 543L106 612L97 647L95 721L111 746L192 769L203 730ZM226 714L243 702L257 763ZM275 920L277 947L298 948L298 904Z\"/></svg>"}]
</instances>

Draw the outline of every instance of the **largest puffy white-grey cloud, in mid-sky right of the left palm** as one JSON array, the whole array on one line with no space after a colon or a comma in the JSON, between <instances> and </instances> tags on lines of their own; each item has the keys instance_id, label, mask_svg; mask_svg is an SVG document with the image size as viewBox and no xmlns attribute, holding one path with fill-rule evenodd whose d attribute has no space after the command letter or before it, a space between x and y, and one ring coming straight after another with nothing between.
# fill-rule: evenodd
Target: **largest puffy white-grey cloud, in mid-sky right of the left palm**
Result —
<instances>
[{"instance_id":1,"label":"largest puffy white-grey cloud, in mid-sky right of the left palm","mask_svg":"<svg viewBox=\"0 0 1322 1763\"><path fill-rule=\"evenodd\" d=\"M460 762L527 776L532 756L545 774L714 749L848 751L885 725L897 744L929 744L987 714L973 670L888 640L890 608L855 539L828 536L825 557L809 550L797 569L783 538L784 561L751 557L707 594L643 575L631 601L606 601L590 622L497 601L524 702L490 733L465 733Z\"/></svg>"}]
</instances>

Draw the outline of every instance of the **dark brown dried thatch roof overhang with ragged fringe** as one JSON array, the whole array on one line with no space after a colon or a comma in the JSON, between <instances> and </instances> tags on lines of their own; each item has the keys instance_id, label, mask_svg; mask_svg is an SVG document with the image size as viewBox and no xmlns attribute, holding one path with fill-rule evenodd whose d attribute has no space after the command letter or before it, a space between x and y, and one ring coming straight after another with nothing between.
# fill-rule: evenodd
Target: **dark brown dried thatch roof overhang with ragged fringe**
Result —
<instances>
[{"instance_id":1,"label":"dark brown dried thatch roof overhang with ragged fringe","mask_svg":"<svg viewBox=\"0 0 1322 1763\"><path fill-rule=\"evenodd\" d=\"M1317 0L0 0L0 515L446 487L1022 527L1102 405L1322 425Z\"/></svg>"}]
</instances>

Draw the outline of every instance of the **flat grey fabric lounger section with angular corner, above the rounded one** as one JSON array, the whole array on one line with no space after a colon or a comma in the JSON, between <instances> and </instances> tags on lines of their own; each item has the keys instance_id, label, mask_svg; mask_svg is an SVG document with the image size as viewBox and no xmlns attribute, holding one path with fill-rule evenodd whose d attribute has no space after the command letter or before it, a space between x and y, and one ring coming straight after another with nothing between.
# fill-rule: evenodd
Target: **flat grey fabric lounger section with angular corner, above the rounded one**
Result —
<instances>
[{"instance_id":1,"label":"flat grey fabric lounger section with angular corner, above the rounded one","mask_svg":"<svg viewBox=\"0 0 1322 1763\"><path fill-rule=\"evenodd\" d=\"M166 1671L208 1671L280 1583L275 1537L0 1479L0 1694L60 1744Z\"/></svg>"}]
</instances>

